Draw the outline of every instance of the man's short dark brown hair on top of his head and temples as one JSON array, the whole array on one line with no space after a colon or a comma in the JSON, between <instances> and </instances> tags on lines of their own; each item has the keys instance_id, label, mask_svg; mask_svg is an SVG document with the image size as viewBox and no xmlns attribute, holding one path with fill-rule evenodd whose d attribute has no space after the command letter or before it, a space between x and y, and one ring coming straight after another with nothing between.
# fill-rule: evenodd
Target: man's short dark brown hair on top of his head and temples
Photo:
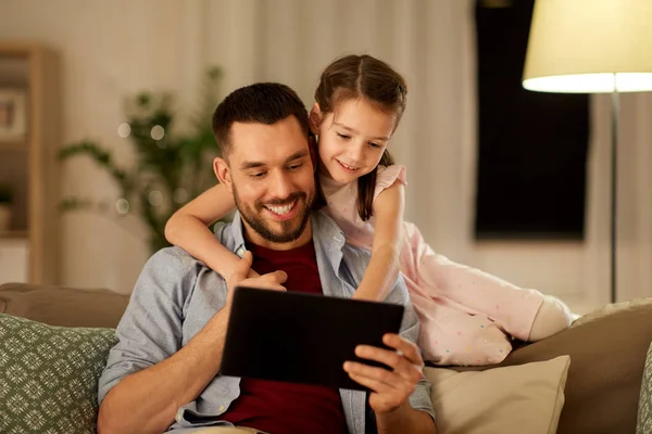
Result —
<instances>
[{"instance_id":1,"label":"man's short dark brown hair on top of his head and temples","mask_svg":"<svg viewBox=\"0 0 652 434\"><path fill-rule=\"evenodd\" d=\"M273 125L288 116L297 118L308 138L308 112L297 93L278 82L258 82L233 91L217 105L213 113L213 133L223 156L228 157L234 123Z\"/></svg>"}]
</instances>

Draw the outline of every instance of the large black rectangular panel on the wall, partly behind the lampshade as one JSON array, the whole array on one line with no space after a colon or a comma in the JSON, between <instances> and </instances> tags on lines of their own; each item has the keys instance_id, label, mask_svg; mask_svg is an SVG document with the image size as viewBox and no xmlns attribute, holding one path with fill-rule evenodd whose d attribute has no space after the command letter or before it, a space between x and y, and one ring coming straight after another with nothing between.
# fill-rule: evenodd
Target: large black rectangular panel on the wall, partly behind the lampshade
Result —
<instances>
[{"instance_id":1,"label":"large black rectangular panel on the wall, partly behind the lampshade","mask_svg":"<svg viewBox=\"0 0 652 434\"><path fill-rule=\"evenodd\" d=\"M582 239L587 94L522 86L532 0L478 1L477 239Z\"/></svg>"}]
</instances>

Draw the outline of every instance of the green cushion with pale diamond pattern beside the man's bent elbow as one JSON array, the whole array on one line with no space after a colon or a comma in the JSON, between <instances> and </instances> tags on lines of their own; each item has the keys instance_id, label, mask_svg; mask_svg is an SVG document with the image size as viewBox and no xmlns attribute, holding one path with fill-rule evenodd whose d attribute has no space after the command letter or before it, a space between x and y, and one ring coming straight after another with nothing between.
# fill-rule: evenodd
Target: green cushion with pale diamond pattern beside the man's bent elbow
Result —
<instances>
[{"instance_id":1,"label":"green cushion with pale diamond pattern beside the man's bent elbow","mask_svg":"<svg viewBox=\"0 0 652 434\"><path fill-rule=\"evenodd\" d=\"M98 379L116 342L112 329L0 314L0 433L95 433Z\"/></svg>"}]
</instances>

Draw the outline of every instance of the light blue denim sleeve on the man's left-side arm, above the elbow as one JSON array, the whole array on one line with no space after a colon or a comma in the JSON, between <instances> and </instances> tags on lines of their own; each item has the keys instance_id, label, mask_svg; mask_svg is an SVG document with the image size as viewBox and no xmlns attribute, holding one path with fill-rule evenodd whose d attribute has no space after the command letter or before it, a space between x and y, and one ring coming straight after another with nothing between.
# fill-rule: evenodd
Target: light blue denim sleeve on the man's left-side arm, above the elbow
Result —
<instances>
[{"instance_id":1,"label":"light blue denim sleeve on the man's left-side arm, above the elbow","mask_svg":"<svg viewBox=\"0 0 652 434\"><path fill-rule=\"evenodd\" d=\"M184 302L197 280L193 263L177 247L163 248L148 260L115 330L118 342L99 379L98 404L125 376L180 349Z\"/></svg>"}]
</instances>

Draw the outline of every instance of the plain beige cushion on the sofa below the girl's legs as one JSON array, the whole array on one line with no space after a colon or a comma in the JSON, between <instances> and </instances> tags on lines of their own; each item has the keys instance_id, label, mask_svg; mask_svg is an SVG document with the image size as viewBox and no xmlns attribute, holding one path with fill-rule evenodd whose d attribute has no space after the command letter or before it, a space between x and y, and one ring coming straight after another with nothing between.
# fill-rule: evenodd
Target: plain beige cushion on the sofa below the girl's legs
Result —
<instances>
[{"instance_id":1,"label":"plain beige cushion on the sofa below the girl's legs","mask_svg":"<svg viewBox=\"0 0 652 434\"><path fill-rule=\"evenodd\" d=\"M485 371L426 368L438 434L553 434L570 358Z\"/></svg>"}]
</instances>

